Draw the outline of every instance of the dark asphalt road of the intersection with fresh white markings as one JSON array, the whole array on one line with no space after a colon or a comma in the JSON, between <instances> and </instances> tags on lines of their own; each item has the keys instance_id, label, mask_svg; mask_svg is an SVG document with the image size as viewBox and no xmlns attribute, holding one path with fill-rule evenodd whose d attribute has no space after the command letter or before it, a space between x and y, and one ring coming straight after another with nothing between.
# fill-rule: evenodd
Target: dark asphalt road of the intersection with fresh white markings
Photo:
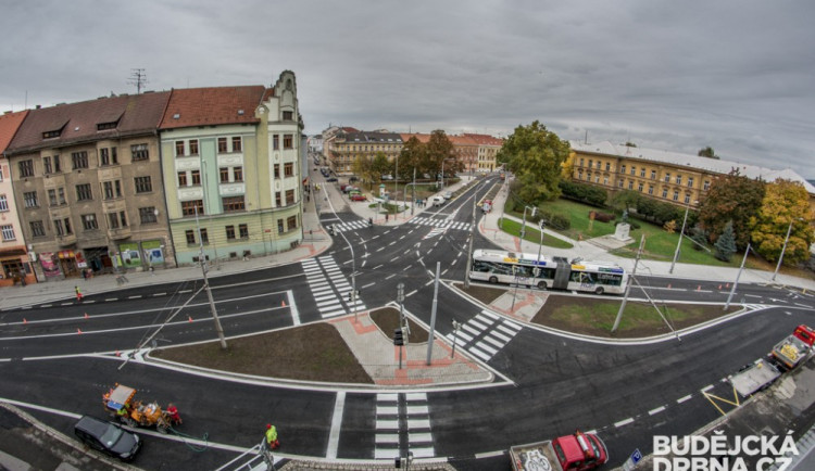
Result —
<instances>
[{"instance_id":1,"label":"dark asphalt road of the intersection with fresh white markings","mask_svg":"<svg viewBox=\"0 0 815 471\"><path fill-rule=\"evenodd\" d=\"M394 302L397 285L403 283L405 309L429 324L437 264L442 279L464 278L474 191L397 227L367 227L338 204L339 213L323 216L324 225L336 225L336 242L316 263L211 278L225 333L266 331L350 311L350 284L360 291L358 308L369 308ZM486 187L479 194L484 191ZM473 242L476 249L491 247L480 236ZM722 283L638 279L651 296L665 301L724 303L729 294ZM330 293L315 296L317 282ZM151 346L145 342L159 326L155 343L162 345L215 336L200 288L200 282L168 283L89 296L83 305L66 300L3 311L0 397L29 405L32 415L66 434L80 415L103 417L101 394L116 382L138 387L142 398L173 402L185 418L180 431L188 436L142 432L147 445L135 464L145 469L217 469L236 457L227 469L238 469L250 461L241 454L258 444L267 421L280 432L283 457L380 458L376 431L381 392L237 381L136 360L122 367L116 353ZM634 289L631 296L643 297L643 292ZM580 429L598 431L612 450L612 464L622 464L634 448L648 453L654 434L687 434L718 417L705 393L732 395L723 382L728 374L766 355L798 323L813 322L812 296L741 284L735 297L749 304L750 311L729 322L681 341L619 345L485 317L481 306L442 284L438 333L450 333L455 320L481 326L468 345L494 333L506 338L500 346L490 344L491 352L481 358L499 374L491 384L431 390L421 398L411 390L387 391L393 395L389 407L400 411L400 446L410 445L411 411L421 403L428 410L432 438L432 448L424 453L432 457L509 469L502 454L510 446ZM339 438L333 444L337 427Z\"/></svg>"}]
</instances>

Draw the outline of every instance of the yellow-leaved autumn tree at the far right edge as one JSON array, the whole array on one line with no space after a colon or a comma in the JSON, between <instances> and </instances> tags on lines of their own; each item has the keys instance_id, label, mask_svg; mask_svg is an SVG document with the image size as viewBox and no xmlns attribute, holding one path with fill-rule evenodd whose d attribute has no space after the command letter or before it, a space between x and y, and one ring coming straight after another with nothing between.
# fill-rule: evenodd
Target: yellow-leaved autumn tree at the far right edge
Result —
<instances>
[{"instance_id":1,"label":"yellow-leaved autumn tree at the far right edge","mask_svg":"<svg viewBox=\"0 0 815 471\"><path fill-rule=\"evenodd\" d=\"M810 245L815 242L812 220L810 196L803 184L780 178L768 183L762 206L752 220L750 236L755 251L762 257L777 262L789 229L785 264L795 265L806 260L810 258Z\"/></svg>"}]
</instances>

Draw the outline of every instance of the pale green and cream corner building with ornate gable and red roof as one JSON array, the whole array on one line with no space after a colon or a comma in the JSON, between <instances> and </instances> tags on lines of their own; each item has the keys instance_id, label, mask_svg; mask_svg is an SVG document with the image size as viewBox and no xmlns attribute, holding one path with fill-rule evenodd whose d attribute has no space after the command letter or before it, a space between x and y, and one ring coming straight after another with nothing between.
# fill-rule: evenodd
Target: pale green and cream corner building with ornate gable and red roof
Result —
<instances>
[{"instance_id":1,"label":"pale green and cream corner building with ornate gable and red roof","mask_svg":"<svg viewBox=\"0 0 815 471\"><path fill-rule=\"evenodd\" d=\"M302 241L302 122L294 74L272 88L173 90L159 126L179 265L267 255Z\"/></svg>"}]
</instances>

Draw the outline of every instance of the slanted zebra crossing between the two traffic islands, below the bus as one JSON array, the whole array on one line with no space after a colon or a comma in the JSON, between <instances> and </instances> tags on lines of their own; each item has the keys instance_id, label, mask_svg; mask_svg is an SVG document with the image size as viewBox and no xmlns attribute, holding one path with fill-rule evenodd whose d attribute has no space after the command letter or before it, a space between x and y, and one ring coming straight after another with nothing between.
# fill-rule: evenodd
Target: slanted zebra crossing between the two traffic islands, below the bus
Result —
<instances>
[{"instance_id":1,"label":"slanted zebra crossing between the two traffic islands, below the bus","mask_svg":"<svg viewBox=\"0 0 815 471\"><path fill-rule=\"evenodd\" d=\"M461 324L453 339L453 332L446 338L484 361L489 361L501 348L521 332L522 327L503 319L489 310L481 310L476 317Z\"/></svg>"}]
</instances>

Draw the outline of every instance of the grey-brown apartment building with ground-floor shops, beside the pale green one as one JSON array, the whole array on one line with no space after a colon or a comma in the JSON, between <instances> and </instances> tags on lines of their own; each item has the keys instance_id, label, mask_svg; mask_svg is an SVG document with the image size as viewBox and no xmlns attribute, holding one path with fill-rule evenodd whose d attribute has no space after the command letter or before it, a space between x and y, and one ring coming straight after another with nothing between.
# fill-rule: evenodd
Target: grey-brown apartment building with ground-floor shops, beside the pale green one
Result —
<instances>
[{"instance_id":1,"label":"grey-brown apartment building with ground-floor shops, beside the pale green one","mask_svg":"<svg viewBox=\"0 0 815 471\"><path fill-rule=\"evenodd\" d=\"M168 98L28 112L4 155L39 280L175 264L155 132Z\"/></svg>"}]
</instances>

